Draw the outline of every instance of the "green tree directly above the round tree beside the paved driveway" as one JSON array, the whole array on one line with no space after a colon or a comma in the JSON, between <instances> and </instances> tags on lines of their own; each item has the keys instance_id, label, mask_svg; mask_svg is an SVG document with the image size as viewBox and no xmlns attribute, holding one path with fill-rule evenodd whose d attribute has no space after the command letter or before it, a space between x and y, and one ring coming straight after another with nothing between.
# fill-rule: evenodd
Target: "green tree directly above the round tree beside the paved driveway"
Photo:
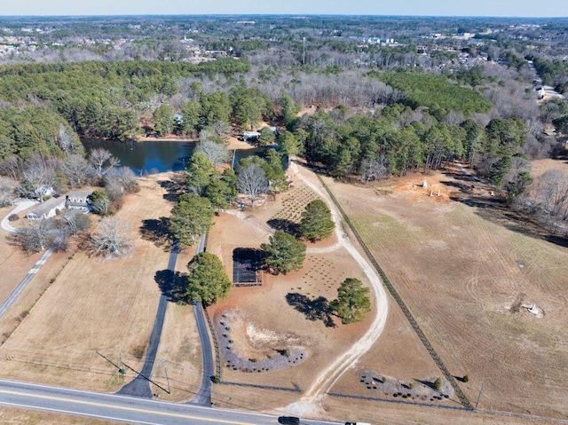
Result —
<instances>
[{"instance_id":1,"label":"green tree directly above the round tree beside the paved driveway","mask_svg":"<svg viewBox=\"0 0 568 425\"><path fill-rule=\"evenodd\" d=\"M192 246L196 236L209 231L212 216L207 198L185 193L171 209L170 231L181 245Z\"/></svg>"}]
</instances>

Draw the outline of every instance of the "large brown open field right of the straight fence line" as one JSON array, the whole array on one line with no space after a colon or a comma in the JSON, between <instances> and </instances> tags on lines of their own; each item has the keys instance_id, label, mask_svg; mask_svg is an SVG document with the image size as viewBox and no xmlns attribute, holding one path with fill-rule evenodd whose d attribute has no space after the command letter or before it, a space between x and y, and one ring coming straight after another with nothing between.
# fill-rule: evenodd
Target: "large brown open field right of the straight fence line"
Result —
<instances>
[{"instance_id":1,"label":"large brown open field right of the straight fence line","mask_svg":"<svg viewBox=\"0 0 568 425\"><path fill-rule=\"evenodd\" d=\"M381 187L327 183L446 366L469 374L460 385L470 400L484 382L480 407L566 419L568 250L470 207L472 193L455 177L427 176L433 197L419 176ZM527 311L533 304L539 314ZM366 367L405 380L435 372L416 369L404 350L380 355L388 335L367 353Z\"/></svg>"}]
</instances>

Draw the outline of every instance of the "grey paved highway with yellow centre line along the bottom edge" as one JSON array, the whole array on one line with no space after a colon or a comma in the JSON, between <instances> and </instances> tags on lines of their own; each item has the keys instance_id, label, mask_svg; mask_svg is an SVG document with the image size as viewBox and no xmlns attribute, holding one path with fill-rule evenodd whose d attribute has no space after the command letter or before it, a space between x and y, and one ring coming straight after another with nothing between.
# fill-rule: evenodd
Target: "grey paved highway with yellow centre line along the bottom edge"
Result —
<instances>
[{"instance_id":1,"label":"grey paved highway with yellow centre line along the bottom edge","mask_svg":"<svg viewBox=\"0 0 568 425\"><path fill-rule=\"evenodd\" d=\"M142 425L274 425L277 417L0 380L0 405ZM309 425L330 424L304 421Z\"/></svg>"}]
</instances>

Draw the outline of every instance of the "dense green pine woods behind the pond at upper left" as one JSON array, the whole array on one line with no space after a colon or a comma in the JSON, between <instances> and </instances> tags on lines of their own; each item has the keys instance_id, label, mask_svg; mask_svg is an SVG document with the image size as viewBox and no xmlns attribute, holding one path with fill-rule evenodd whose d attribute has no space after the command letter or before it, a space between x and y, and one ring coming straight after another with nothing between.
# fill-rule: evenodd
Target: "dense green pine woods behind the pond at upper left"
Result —
<instances>
[{"instance_id":1,"label":"dense green pine woods behind the pond at upper left","mask_svg":"<svg viewBox=\"0 0 568 425\"><path fill-rule=\"evenodd\" d=\"M236 59L200 65L158 61L14 65L0 67L0 98L9 104L25 100L43 106L43 114L51 114L51 120L63 117L83 137L129 140L140 132L140 110L155 96L169 98L177 93L177 79L226 77L249 68L247 62ZM25 109L27 114L40 114L37 108ZM28 143L37 146L39 139Z\"/></svg>"}]
</instances>

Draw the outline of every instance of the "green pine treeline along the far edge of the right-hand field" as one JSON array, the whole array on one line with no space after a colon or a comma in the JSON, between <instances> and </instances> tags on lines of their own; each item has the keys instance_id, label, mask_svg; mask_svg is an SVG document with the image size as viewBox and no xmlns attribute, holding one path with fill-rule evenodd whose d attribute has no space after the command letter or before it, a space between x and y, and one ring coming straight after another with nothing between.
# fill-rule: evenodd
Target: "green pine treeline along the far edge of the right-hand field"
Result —
<instances>
[{"instance_id":1,"label":"green pine treeline along the far edge of the right-hand field","mask_svg":"<svg viewBox=\"0 0 568 425\"><path fill-rule=\"evenodd\" d=\"M335 177L358 175L367 183L418 169L428 172L457 159L503 188L509 201L531 181L522 120L495 118L484 127L466 119L449 125L401 104L383 108L378 116L346 114L344 107L318 110L293 124L300 153Z\"/></svg>"}]
</instances>

